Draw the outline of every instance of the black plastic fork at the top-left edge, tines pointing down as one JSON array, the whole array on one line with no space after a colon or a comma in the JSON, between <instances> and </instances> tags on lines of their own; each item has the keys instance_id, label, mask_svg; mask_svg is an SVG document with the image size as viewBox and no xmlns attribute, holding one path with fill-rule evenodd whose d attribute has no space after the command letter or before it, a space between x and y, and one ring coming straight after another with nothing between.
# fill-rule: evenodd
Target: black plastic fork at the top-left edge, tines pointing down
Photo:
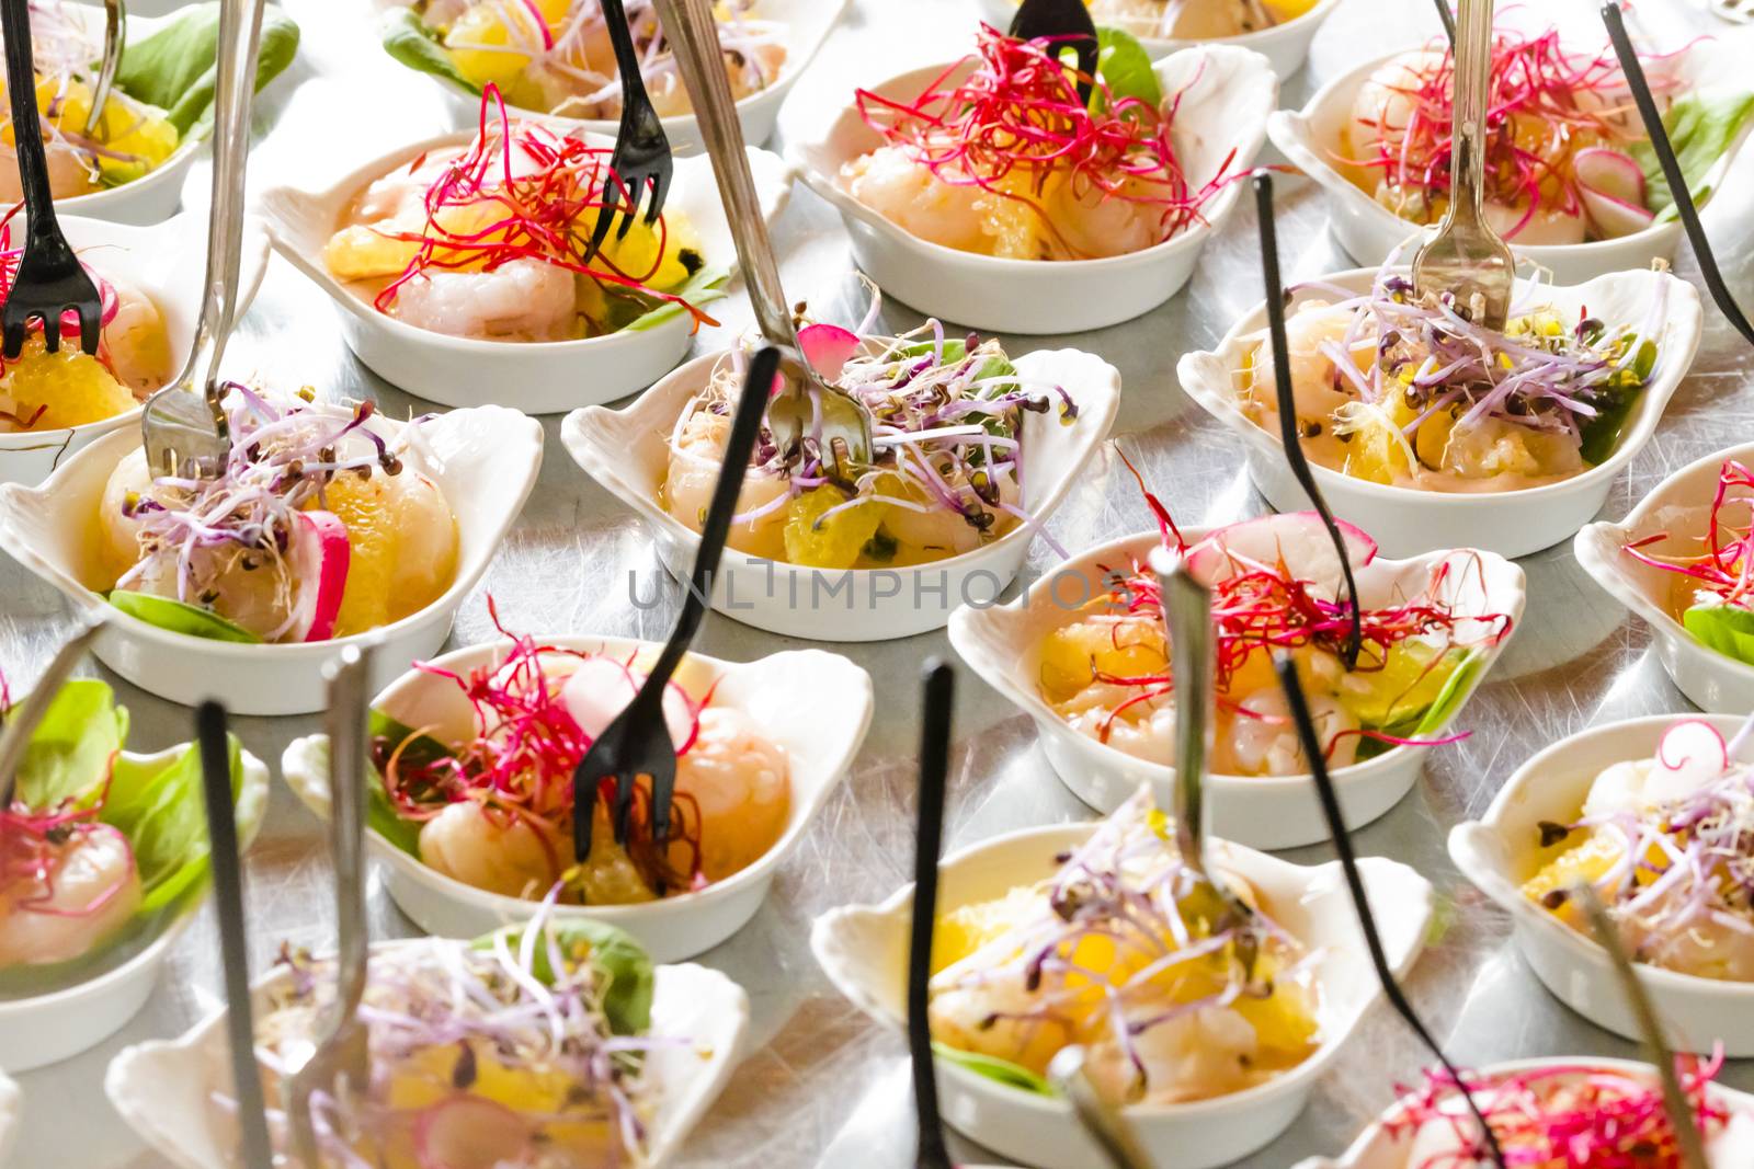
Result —
<instances>
[{"instance_id":1,"label":"black plastic fork at the top-left edge, tines pointing down","mask_svg":"<svg viewBox=\"0 0 1754 1169\"><path fill-rule=\"evenodd\" d=\"M79 347L98 352L103 301L84 265L74 256L54 219L49 191L49 159L42 151L42 121L37 116L37 67L30 53L30 2L0 0L0 33L5 35L5 88L12 103L12 140L19 184L30 216L25 258L18 265L5 307L0 308L0 356L7 361L25 347L32 317L42 321L42 344L61 347L61 317L79 315Z\"/></svg>"}]
</instances>

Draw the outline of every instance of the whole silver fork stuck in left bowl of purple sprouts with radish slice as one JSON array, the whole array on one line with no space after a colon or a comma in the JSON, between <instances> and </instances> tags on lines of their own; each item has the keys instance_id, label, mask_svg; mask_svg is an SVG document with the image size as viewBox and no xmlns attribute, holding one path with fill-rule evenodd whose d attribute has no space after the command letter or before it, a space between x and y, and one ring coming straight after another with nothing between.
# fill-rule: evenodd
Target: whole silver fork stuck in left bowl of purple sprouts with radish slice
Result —
<instances>
[{"instance_id":1,"label":"whole silver fork stuck in left bowl of purple sprouts with radish slice","mask_svg":"<svg viewBox=\"0 0 1754 1169\"><path fill-rule=\"evenodd\" d=\"M244 168L249 107L256 91L263 0L219 0L219 63L214 98L212 209L207 219L207 279L202 317L182 373L153 394L140 417L146 461L154 475L217 475L232 454L219 361L237 324L239 263L244 251Z\"/></svg>"}]
</instances>

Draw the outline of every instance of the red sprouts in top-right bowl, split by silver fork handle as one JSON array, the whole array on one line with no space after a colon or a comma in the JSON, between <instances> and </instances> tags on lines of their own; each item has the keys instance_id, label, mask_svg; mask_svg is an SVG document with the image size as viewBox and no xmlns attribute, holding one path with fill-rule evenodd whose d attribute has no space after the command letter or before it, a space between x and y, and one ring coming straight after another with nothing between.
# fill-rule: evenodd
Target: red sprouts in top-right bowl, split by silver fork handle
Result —
<instances>
[{"instance_id":1,"label":"red sprouts in top-right bowl, split by silver fork handle","mask_svg":"<svg viewBox=\"0 0 1754 1169\"><path fill-rule=\"evenodd\" d=\"M1419 191L1428 210L1449 198L1456 70L1447 44L1433 42L1431 47L1442 47L1438 65L1415 74L1417 84L1393 88L1405 102L1407 124L1382 126L1361 119L1361 124L1379 130L1375 152L1344 159L1380 172L1394 191ZM1665 86L1661 79L1652 84ZM1528 202L1505 238L1515 238L1542 209L1582 214L1572 158L1580 147L1598 142L1642 138L1635 131L1638 121L1622 117L1628 107L1626 75L1612 51L1594 56L1566 53L1552 28L1538 37L1494 30L1486 100L1486 198L1507 207Z\"/></svg>"}]
</instances>

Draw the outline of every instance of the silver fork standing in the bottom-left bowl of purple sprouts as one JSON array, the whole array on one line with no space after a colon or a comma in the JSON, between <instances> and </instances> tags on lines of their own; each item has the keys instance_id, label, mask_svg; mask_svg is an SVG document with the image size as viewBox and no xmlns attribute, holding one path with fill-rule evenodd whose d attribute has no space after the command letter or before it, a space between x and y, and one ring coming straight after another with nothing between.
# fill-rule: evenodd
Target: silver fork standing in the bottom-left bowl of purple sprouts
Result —
<instances>
[{"instance_id":1,"label":"silver fork standing in the bottom-left bowl of purple sprouts","mask_svg":"<svg viewBox=\"0 0 1754 1169\"><path fill-rule=\"evenodd\" d=\"M335 1001L323 1020L323 1038L303 1067L284 1087L286 1122L293 1153L305 1169L317 1169L310 1097L335 1099L365 1092L372 1080L372 1050L360 1022L365 997L370 929L365 918L365 703L370 650L346 647L324 668L330 736L330 848L335 864Z\"/></svg>"}]
</instances>

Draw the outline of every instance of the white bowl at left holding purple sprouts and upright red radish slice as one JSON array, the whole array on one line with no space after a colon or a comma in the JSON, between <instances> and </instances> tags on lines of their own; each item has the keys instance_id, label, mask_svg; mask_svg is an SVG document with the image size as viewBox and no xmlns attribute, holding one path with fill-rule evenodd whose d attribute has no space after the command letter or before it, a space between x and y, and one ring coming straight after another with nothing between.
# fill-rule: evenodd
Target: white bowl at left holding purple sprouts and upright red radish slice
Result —
<instances>
[{"instance_id":1,"label":"white bowl at left holding purple sprouts and upright red radish slice","mask_svg":"<svg viewBox=\"0 0 1754 1169\"><path fill-rule=\"evenodd\" d=\"M386 438L405 426L374 414L367 426ZM95 587L109 587L98 563L98 501L111 471L140 443L119 431L61 464L40 487L0 487L0 549L60 589L74 608L103 622L96 655L149 694L195 705L217 698L240 715L298 715L324 708L321 664L344 645L375 645L372 685L396 677L410 659L433 654L451 633L463 598L475 587L524 507L542 466L542 426L503 407L472 407L421 424L423 442L403 463L444 492L458 526L456 580L426 608L370 633L332 641L239 645L184 636L123 613Z\"/></svg>"}]
</instances>

